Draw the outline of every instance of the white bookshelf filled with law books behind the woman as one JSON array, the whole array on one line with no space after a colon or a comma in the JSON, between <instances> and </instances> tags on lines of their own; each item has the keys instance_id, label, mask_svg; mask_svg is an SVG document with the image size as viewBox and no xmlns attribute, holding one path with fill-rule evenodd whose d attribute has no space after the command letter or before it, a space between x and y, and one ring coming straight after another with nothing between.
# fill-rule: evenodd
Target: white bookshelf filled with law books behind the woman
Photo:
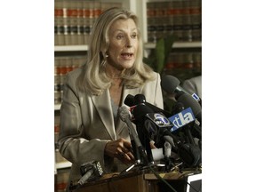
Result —
<instances>
[{"instance_id":1,"label":"white bookshelf filled with law books behind the woman","mask_svg":"<svg viewBox=\"0 0 256 192\"><path fill-rule=\"evenodd\" d=\"M178 3L175 3L175 2L178 2ZM154 38L151 38L150 40L150 36L152 36L152 30L150 31L151 33L150 34L148 32L148 28L150 27L150 25L152 25L151 21L154 20L154 17L157 17L157 19L155 18L156 20L166 20L166 18L169 17L169 19L173 21L172 14L170 13L170 12L173 13L173 9L174 9L174 8L172 9L172 5L176 4L175 9L179 11L178 9L179 4L181 5L185 4L187 6L185 11L186 10L188 11L189 10L188 2L201 4L201 0L107 0L107 1L55 0L54 2L54 44L55 44L54 45L54 68L55 68L55 72L54 72L54 117L55 117L54 118L54 134L56 138L55 140L57 140L58 138L62 83L64 81L65 74L68 73L68 71L73 70L74 68L77 68L83 64L86 58L86 52L88 51L88 45L86 44L86 42L88 42L88 38L90 37L90 28L92 27L93 20L97 18L97 15L99 15L99 12L102 12L102 10L107 9L110 6L123 6L124 8L130 9L132 12L135 12L140 19L139 27L142 35L143 46L144 46L144 55L147 56L149 52L155 49L156 47L155 40L157 36L161 36L161 33L162 35L164 35L162 29L161 29L161 33L158 33L157 31L155 31L153 32L156 35L156 38L154 37L155 40L151 41ZM180 5L180 10L182 10L181 5ZM148 19L149 17L148 7L149 8L153 7L154 8L153 11L155 12L155 15L153 14L153 16L152 15L150 16L150 17L153 17L153 19L151 18L151 20ZM171 10L169 12L170 13L169 15L165 14L168 11L167 8L169 8L169 11ZM163 11L163 9L165 10ZM196 8L196 10L198 9L199 7ZM69 13L68 13L68 10L70 11ZM159 13L161 10L162 10L162 13L165 12L162 14L162 16ZM191 10L192 10L191 12L193 12L193 9ZM86 15L83 16L83 14L85 14L83 12L87 12L88 17ZM194 13L198 14L198 12L196 11ZM176 12L175 17L176 19L178 18L177 20L180 20L179 16L181 18L184 15L181 15L181 13L179 14L179 12L178 13ZM200 17L201 15L197 17L197 21L199 20L198 18ZM185 16L184 18L186 19ZM187 21L188 20L189 18L187 17ZM201 20L200 20L200 24L201 24ZM183 24L180 23L179 25L180 28L182 27L182 25ZM164 26L165 27L167 26L166 22L164 23ZM72 27L76 27L76 28L72 28ZM170 29L170 26L167 26L167 27L164 29L165 31L167 29L168 30ZM191 26L191 28L192 27L193 26ZM157 28L162 28L162 27L158 26ZM171 26L171 28L173 29L174 27ZM192 34L192 31L191 30L189 31L188 29L188 25L185 25L185 24L183 25L183 29L187 28L186 30L188 31L185 31L185 29L182 30L182 28L181 29L180 28L176 28L178 31L178 35L188 34L188 32L191 32L190 35ZM196 31L195 34L197 33L197 34L200 34L201 36L201 27L197 25L196 27L194 26L194 28L197 29L197 31L195 30ZM178 29L180 29L180 31ZM173 30L172 31L168 31L168 30L167 30L168 33L173 32ZM183 65L183 66L186 65L187 68L173 68L173 65L174 66L175 64L177 65L177 60L174 60L173 61L174 64L170 61L170 64L168 63L168 65L166 65L168 68L166 68L165 73L171 74L173 76L177 76L181 79L181 81L182 79L188 78L188 76L187 75L179 76L180 74L188 73L189 76L200 75L201 68L202 68L201 49L202 49L201 38L194 38L194 39L190 38L186 40L185 37L184 38L180 37L180 40L175 42L172 46L173 52L170 55L170 60L173 61L172 56L173 58L176 58L179 61L180 61L180 58L187 58L187 61L189 59L190 60L193 59L192 62L194 66L196 66L196 69L191 67L190 65L191 63L190 64L186 63L187 62L186 60L183 60L183 61L181 60L179 65ZM56 147L56 143L55 143L55 147ZM59 161L60 154L58 153L59 153L58 148L56 148L55 170L54 170L55 191L63 191L63 188L64 188L63 185L65 186L65 182L66 182L65 180L68 181L67 172L69 171L71 163L65 159L64 160L62 159ZM59 188L58 186L59 187L61 186L61 187Z\"/></svg>"}]
</instances>

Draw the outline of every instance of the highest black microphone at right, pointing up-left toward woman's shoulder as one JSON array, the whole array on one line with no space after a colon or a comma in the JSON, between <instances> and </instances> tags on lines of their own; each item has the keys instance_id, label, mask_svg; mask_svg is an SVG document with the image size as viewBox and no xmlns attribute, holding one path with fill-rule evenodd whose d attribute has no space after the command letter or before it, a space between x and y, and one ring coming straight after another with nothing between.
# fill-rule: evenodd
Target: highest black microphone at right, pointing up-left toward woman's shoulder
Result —
<instances>
[{"instance_id":1,"label":"highest black microphone at right, pointing up-left toward woman's shoulder","mask_svg":"<svg viewBox=\"0 0 256 192\"><path fill-rule=\"evenodd\" d=\"M180 86L180 80L175 76L163 76L161 80L161 86L165 92L174 94L176 100L180 97L180 95L185 93L190 95L200 104L200 106L202 106L202 99L196 94L196 92L192 94L188 93L188 91Z\"/></svg>"}]
</instances>

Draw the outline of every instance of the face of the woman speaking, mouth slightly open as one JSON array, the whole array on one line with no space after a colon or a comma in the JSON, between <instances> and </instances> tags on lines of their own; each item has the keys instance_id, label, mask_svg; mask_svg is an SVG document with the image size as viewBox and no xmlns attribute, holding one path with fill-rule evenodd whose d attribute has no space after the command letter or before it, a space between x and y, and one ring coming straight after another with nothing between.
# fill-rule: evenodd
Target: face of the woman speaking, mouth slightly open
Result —
<instances>
[{"instance_id":1,"label":"face of the woman speaking, mouth slightly open","mask_svg":"<svg viewBox=\"0 0 256 192\"><path fill-rule=\"evenodd\" d=\"M108 64L118 70L132 68L138 49L138 30L132 19L116 20L109 28Z\"/></svg>"}]
</instances>

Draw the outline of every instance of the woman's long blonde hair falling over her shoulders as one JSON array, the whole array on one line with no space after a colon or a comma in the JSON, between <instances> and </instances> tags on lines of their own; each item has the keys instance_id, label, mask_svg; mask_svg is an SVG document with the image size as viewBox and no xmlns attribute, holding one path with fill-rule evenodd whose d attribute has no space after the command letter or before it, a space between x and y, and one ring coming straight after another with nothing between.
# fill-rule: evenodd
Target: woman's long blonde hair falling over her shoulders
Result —
<instances>
[{"instance_id":1,"label":"woman's long blonde hair falling over her shoulders","mask_svg":"<svg viewBox=\"0 0 256 192\"><path fill-rule=\"evenodd\" d=\"M77 79L77 86L81 91L100 95L111 85L111 80L105 73L106 52L108 51L108 30L111 24L119 19L134 20L138 29L139 47L137 57L132 68L124 69L122 72L123 84L128 88L136 88L148 80L153 80L152 68L142 62L142 42L138 17L127 10L121 8L110 8L102 12L92 27L87 60L82 73Z\"/></svg>"}]
</instances>

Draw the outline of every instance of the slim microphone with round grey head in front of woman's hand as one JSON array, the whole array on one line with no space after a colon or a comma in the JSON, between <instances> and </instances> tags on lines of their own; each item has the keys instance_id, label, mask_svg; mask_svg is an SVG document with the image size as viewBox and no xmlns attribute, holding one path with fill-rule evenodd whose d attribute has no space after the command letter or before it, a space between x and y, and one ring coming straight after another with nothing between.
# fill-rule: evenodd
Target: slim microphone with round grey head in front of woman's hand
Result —
<instances>
[{"instance_id":1,"label":"slim microphone with round grey head in front of woman's hand","mask_svg":"<svg viewBox=\"0 0 256 192\"><path fill-rule=\"evenodd\" d=\"M139 136L138 136L137 132L135 132L135 129L132 125L132 121L131 121L132 114L128 110L128 108L126 108L125 106L118 108L118 114L119 114L120 119L124 123L126 123L128 126L134 156L137 160L137 163L140 164L140 161L141 161L140 156L142 156L143 159L145 160L146 154L145 154L145 150L140 142Z\"/></svg>"}]
</instances>

